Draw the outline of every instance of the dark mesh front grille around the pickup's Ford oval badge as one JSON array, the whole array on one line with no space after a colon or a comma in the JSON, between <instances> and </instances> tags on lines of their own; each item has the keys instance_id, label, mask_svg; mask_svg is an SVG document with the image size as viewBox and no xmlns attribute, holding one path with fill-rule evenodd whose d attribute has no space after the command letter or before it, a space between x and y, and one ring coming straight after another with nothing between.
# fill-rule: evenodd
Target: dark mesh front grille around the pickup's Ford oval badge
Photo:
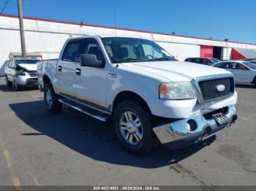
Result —
<instances>
[{"instance_id":1,"label":"dark mesh front grille around the pickup's Ford oval badge","mask_svg":"<svg viewBox=\"0 0 256 191\"><path fill-rule=\"evenodd\" d=\"M225 85L225 90L219 92L217 90L217 85ZM205 102L225 98L234 93L234 82L232 77L200 81L199 87Z\"/></svg>"}]
</instances>

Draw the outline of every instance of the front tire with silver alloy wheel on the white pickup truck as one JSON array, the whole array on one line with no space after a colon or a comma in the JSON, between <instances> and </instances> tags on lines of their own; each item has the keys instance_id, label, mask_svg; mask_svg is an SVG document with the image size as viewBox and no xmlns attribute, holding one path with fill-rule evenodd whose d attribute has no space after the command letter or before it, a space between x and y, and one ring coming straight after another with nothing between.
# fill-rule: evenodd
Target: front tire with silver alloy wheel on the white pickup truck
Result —
<instances>
[{"instance_id":1,"label":"front tire with silver alloy wheel on the white pickup truck","mask_svg":"<svg viewBox=\"0 0 256 191\"><path fill-rule=\"evenodd\" d=\"M128 152L145 155L154 145L151 115L140 104L124 101L116 107L113 125L118 141Z\"/></svg>"}]
</instances>

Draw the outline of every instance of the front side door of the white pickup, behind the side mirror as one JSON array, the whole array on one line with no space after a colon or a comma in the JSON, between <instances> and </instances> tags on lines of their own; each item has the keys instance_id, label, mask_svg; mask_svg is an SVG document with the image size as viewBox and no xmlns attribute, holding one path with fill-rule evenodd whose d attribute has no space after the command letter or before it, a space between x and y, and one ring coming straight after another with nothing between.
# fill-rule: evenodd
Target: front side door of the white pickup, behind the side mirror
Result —
<instances>
[{"instance_id":1,"label":"front side door of the white pickup, behind the side mirror","mask_svg":"<svg viewBox=\"0 0 256 191\"><path fill-rule=\"evenodd\" d=\"M80 66L77 63L76 93L77 100L102 111L106 109L106 79L105 58L97 39L83 39L78 58L81 54L96 55L98 61L102 61L102 67Z\"/></svg>"}]
</instances>

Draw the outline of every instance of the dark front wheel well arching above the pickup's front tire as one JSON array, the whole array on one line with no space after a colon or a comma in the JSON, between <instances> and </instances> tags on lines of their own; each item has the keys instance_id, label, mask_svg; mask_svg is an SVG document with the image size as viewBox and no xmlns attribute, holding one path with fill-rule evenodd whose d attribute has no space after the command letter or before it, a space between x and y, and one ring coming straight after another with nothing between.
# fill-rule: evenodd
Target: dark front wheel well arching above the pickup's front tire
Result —
<instances>
[{"instance_id":1,"label":"dark front wheel well arching above the pickup's front tire","mask_svg":"<svg viewBox=\"0 0 256 191\"><path fill-rule=\"evenodd\" d=\"M151 110L149 109L146 101L143 98L141 98L140 95L138 95L137 93L133 93L130 91L123 91L121 93L118 93L118 95L116 95L116 98L113 101L112 111L113 112L115 111L116 106L118 106L118 104L127 100L135 101L137 104L140 104L140 106L143 106L143 108L147 109L147 111L151 114Z\"/></svg>"}]
</instances>

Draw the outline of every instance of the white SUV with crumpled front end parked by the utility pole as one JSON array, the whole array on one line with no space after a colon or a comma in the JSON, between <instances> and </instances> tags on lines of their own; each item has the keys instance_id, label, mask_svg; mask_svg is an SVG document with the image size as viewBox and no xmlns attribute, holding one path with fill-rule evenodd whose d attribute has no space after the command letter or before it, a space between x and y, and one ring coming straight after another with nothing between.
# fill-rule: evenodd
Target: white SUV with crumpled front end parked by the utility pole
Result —
<instances>
[{"instance_id":1,"label":"white SUV with crumpled front end parked by the utility pole","mask_svg":"<svg viewBox=\"0 0 256 191\"><path fill-rule=\"evenodd\" d=\"M9 61L4 69L7 86L15 85L15 90L29 85L37 86L36 58L14 58Z\"/></svg>"}]
</instances>

